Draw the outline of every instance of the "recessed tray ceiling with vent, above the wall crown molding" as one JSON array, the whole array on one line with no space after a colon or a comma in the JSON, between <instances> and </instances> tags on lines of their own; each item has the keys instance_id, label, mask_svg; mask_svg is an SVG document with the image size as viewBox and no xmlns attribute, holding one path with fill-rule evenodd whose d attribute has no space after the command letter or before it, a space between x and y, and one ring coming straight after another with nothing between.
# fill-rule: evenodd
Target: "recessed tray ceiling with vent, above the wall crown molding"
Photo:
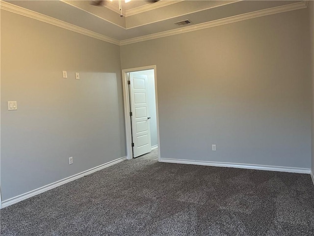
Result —
<instances>
[{"instance_id":1,"label":"recessed tray ceiling with vent, above the wall crown molding","mask_svg":"<svg viewBox=\"0 0 314 236\"><path fill-rule=\"evenodd\" d=\"M161 32L197 27L204 23L243 16L270 8L305 2L301 0L122 0L120 17L117 0L93 6L90 0L9 0L10 4L123 41ZM287 8L288 9L288 8ZM177 26L189 19L193 24Z\"/></svg>"}]
</instances>

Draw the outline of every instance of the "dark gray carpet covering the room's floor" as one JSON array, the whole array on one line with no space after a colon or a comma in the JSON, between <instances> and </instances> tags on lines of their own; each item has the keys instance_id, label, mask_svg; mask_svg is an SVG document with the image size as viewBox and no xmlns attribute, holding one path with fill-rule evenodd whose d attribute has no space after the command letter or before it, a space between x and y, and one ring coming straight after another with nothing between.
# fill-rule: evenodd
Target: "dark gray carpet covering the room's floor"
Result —
<instances>
[{"instance_id":1,"label":"dark gray carpet covering the room's floor","mask_svg":"<svg viewBox=\"0 0 314 236\"><path fill-rule=\"evenodd\" d=\"M124 161L1 210L1 236L313 236L310 175Z\"/></svg>"}]
</instances>

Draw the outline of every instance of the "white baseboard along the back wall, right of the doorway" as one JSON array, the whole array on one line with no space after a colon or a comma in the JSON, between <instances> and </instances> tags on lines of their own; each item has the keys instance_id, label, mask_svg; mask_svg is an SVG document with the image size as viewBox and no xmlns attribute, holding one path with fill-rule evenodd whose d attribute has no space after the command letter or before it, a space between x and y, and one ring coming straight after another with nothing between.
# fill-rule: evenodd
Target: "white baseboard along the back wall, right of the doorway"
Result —
<instances>
[{"instance_id":1,"label":"white baseboard along the back wall, right of the doorway","mask_svg":"<svg viewBox=\"0 0 314 236\"><path fill-rule=\"evenodd\" d=\"M253 169L253 170L262 170L262 171L280 171L280 172L301 173L301 174L310 174L311 172L311 169L306 169L306 168L249 165L249 164L214 162L214 161L193 161L193 160L161 158L160 162L177 163L177 164L192 164L192 165L202 165L202 166L233 167L233 168L241 168L241 169Z\"/></svg>"}]
</instances>

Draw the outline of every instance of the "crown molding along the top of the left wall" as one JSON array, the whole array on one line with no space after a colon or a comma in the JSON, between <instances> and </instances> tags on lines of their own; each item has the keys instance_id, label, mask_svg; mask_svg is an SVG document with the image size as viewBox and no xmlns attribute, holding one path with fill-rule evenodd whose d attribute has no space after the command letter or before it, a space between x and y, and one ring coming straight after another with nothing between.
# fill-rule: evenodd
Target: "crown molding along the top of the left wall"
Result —
<instances>
[{"instance_id":1,"label":"crown molding along the top of the left wall","mask_svg":"<svg viewBox=\"0 0 314 236\"><path fill-rule=\"evenodd\" d=\"M40 14L38 12L25 9L25 8L17 6L17 5L13 5L13 4L5 2L5 1L0 1L0 9L6 10L9 12L13 12L13 13L16 13L16 14L19 14L22 16L26 16L26 17L29 17L29 18L32 18L32 19L35 19L38 21L42 21L42 22L45 22L45 23L48 23L48 24L51 24L54 26L58 26L58 27L61 27L63 29L69 29L71 31L81 33L81 34L84 34L84 35L87 35L87 36L90 36L93 38L97 38L97 39L100 39L100 40L108 42L108 43L120 45L119 40L107 37L105 35L93 32L93 31L88 30L88 29L84 29L84 28L72 25L72 24L64 22L64 21L57 20L57 19L52 18L50 16L46 16L46 15Z\"/></svg>"}]
</instances>

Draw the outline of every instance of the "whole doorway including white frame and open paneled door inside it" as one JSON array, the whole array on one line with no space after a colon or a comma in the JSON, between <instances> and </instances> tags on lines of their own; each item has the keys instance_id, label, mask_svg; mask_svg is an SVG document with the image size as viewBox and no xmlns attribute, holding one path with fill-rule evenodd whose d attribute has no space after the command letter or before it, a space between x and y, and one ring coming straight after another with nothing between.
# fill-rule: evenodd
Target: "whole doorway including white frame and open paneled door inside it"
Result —
<instances>
[{"instance_id":1,"label":"whole doorway including white frame and open paneled door inside it","mask_svg":"<svg viewBox=\"0 0 314 236\"><path fill-rule=\"evenodd\" d=\"M122 70L127 159L158 148L156 65Z\"/></svg>"}]
</instances>

